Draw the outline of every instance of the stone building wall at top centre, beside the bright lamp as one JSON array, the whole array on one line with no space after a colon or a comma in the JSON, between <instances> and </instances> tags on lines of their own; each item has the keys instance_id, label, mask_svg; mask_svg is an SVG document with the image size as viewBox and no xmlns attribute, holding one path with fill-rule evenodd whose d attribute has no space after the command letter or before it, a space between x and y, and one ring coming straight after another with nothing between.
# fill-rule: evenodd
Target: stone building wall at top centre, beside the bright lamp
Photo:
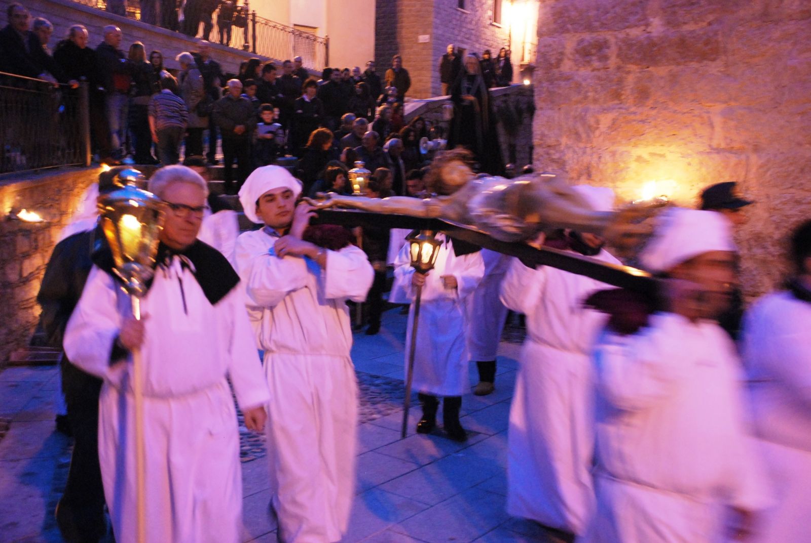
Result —
<instances>
[{"instance_id":1,"label":"stone building wall at top centre, beside the bright lamp","mask_svg":"<svg viewBox=\"0 0 811 543\"><path fill-rule=\"evenodd\" d=\"M439 60L449 43L481 53L507 44L507 29L491 23L491 0L377 0L375 14L375 63L383 78L392 57L400 53L409 70L413 98L440 93ZM419 36L427 36L420 42Z\"/></svg>"}]
</instances>

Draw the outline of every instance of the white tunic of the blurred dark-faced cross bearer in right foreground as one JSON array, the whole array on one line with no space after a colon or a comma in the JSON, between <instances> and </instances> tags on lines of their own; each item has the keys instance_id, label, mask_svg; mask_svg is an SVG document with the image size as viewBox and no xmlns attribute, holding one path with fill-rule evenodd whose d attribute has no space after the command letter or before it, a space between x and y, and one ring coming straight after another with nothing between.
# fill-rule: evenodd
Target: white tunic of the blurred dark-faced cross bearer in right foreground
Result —
<instances>
[{"instance_id":1,"label":"white tunic of the blurred dark-faced cross bearer in right foreground","mask_svg":"<svg viewBox=\"0 0 811 543\"><path fill-rule=\"evenodd\" d=\"M606 334L594 362L597 511L585 541L722 541L724 506L768 503L735 347L718 325L659 313L633 336Z\"/></svg>"}]
</instances>

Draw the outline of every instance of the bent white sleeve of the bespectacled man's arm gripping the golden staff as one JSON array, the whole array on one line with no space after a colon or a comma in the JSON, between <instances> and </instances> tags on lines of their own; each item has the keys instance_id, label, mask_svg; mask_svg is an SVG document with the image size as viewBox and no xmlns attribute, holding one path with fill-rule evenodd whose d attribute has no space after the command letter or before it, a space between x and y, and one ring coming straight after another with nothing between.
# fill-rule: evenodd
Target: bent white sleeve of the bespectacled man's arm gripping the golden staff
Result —
<instances>
[{"instance_id":1,"label":"bent white sleeve of the bespectacled man's arm gripping the golden staff","mask_svg":"<svg viewBox=\"0 0 811 543\"><path fill-rule=\"evenodd\" d=\"M106 380L113 379L109 358L122 324L116 291L113 278L94 265L63 340L71 363Z\"/></svg>"}]
</instances>

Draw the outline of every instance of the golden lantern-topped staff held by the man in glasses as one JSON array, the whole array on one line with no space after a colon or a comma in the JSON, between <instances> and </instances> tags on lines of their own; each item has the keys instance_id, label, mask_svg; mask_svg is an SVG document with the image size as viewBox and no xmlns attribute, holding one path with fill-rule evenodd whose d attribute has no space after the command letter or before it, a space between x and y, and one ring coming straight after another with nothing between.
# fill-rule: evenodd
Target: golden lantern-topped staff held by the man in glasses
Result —
<instances>
[{"instance_id":1,"label":"golden lantern-topped staff held by the man in glasses","mask_svg":"<svg viewBox=\"0 0 811 543\"><path fill-rule=\"evenodd\" d=\"M127 175L133 172L132 175ZM135 175L137 174L137 176ZM129 183L107 194L99 202L101 227L113 252L114 273L130 296L132 316L141 318L140 299L146 294L157 254L158 236L163 229L164 203L133 183L141 177L125 170L119 178ZM141 177L143 178L143 177ZM146 492L144 473L144 380L139 349L132 350L132 393L135 403L135 488L137 490L137 539L146 541Z\"/></svg>"}]
</instances>

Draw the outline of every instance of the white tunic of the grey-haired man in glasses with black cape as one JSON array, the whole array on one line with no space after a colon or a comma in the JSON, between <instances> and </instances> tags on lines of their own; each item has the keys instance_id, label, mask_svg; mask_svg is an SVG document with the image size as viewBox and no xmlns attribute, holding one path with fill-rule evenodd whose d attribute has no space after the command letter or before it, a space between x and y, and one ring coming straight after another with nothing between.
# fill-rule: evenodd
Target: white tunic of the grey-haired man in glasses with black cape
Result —
<instances>
[{"instance_id":1,"label":"white tunic of the grey-haired man in glasses with black cape","mask_svg":"<svg viewBox=\"0 0 811 543\"><path fill-rule=\"evenodd\" d=\"M268 401L242 292L236 287L212 306L174 258L157 269L141 310L147 541L240 541L239 437L226 376L242 409ZM134 401L131 364L109 358L127 314L127 295L93 267L64 341L72 363L105 380L99 460L120 543L136 537Z\"/></svg>"}]
</instances>

